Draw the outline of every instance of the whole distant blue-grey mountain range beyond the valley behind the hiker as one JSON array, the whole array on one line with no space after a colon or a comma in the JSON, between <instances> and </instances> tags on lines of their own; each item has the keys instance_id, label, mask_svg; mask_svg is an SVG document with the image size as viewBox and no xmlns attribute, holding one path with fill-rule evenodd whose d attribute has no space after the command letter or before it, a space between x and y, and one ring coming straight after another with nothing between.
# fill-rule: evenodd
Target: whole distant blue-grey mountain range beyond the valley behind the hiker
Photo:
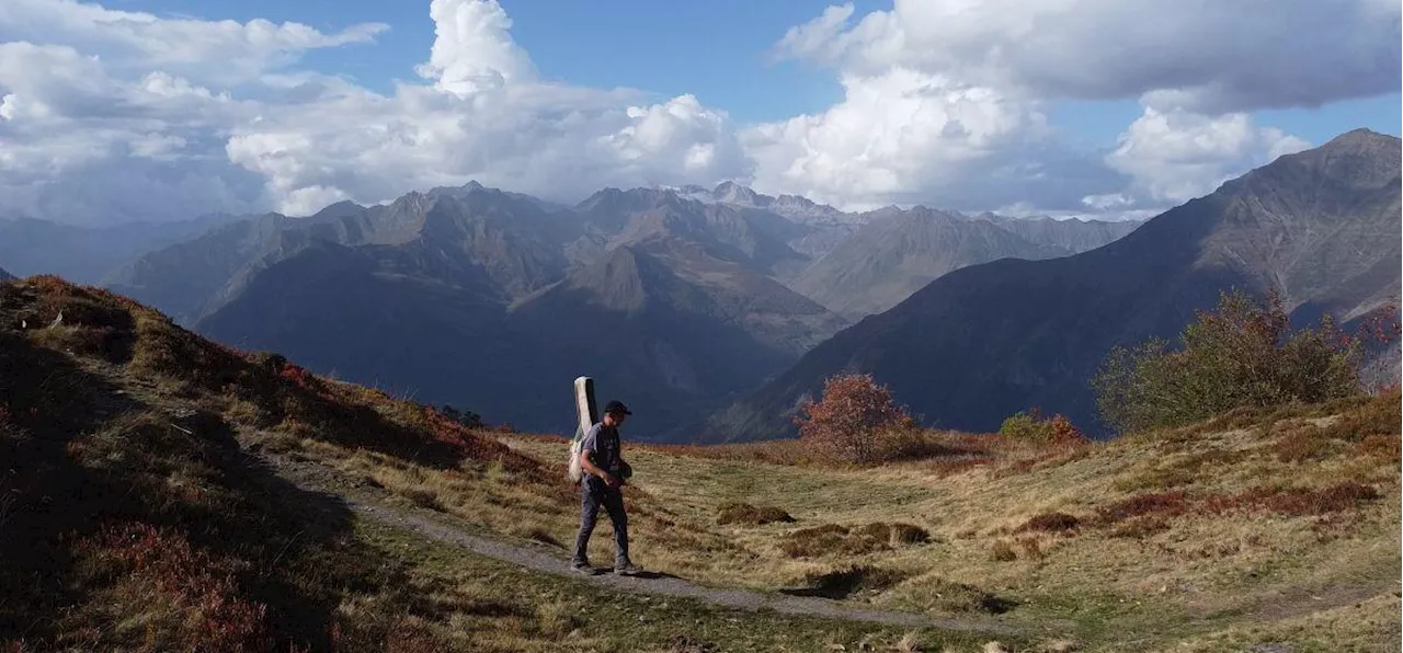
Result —
<instances>
[{"instance_id":1,"label":"whole distant blue-grey mountain range beyond the valley behind the hiker","mask_svg":"<svg viewBox=\"0 0 1403 653\"><path fill-rule=\"evenodd\" d=\"M923 227L933 214L937 230ZM643 433L744 398L950 269L1068 255L1138 224L846 213L737 184L606 188L563 206L476 182L202 220L125 227L140 237L87 263L74 261L108 231L22 221L38 234L28 258L7 256L24 273L100 279L229 345L518 427L568 427L560 388L593 376L648 406ZM887 233L915 235L870 235Z\"/></svg>"}]
</instances>

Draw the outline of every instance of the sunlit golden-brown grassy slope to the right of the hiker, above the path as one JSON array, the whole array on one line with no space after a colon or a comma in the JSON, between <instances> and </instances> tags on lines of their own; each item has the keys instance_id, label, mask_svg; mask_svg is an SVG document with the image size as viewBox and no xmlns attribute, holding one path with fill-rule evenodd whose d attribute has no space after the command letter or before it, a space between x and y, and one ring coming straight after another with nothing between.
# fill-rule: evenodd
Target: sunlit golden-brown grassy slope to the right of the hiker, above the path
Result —
<instances>
[{"instance_id":1,"label":"sunlit golden-brown grassy slope to the right of the hiker, above the path","mask_svg":"<svg viewBox=\"0 0 1403 653\"><path fill-rule=\"evenodd\" d=\"M1108 650L1274 640L1382 650L1403 635L1400 433L1403 395L1389 395L1107 444L989 439L988 461L968 469L941 460L870 471L756 461L784 458L791 444L626 453L640 489L672 497L678 521L734 545L706 558L668 538L636 547L673 573L779 587L856 565L882 579L856 598L958 612L992 594L1016 604L1005 619ZM509 443L535 455L560 448ZM797 521L717 525L735 500ZM1020 531L1056 513L1079 525ZM804 528L873 521L923 527L936 544L798 558L783 549Z\"/></svg>"}]
</instances>

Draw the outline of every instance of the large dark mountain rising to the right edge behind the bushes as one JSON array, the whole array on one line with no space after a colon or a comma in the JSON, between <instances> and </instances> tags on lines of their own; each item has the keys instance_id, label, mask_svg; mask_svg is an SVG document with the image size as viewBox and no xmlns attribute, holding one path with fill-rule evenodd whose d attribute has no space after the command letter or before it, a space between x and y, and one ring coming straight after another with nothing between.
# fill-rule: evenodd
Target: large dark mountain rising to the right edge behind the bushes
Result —
<instances>
[{"instance_id":1,"label":"large dark mountain rising to the right edge behind the bushes","mask_svg":"<svg viewBox=\"0 0 1403 653\"><path fill-rule=\"evenodd\" d=\"M1281 157L1099 249L951 272L815 348L689 436L790 432L840 370L871 371L929 423L989 430L1040 406L1092 425L1087 385L1117 343L1173 338L1233 286L1345 318L1403 289L1403 140L1351 132Z\"/></svg>"}]
</instances>

